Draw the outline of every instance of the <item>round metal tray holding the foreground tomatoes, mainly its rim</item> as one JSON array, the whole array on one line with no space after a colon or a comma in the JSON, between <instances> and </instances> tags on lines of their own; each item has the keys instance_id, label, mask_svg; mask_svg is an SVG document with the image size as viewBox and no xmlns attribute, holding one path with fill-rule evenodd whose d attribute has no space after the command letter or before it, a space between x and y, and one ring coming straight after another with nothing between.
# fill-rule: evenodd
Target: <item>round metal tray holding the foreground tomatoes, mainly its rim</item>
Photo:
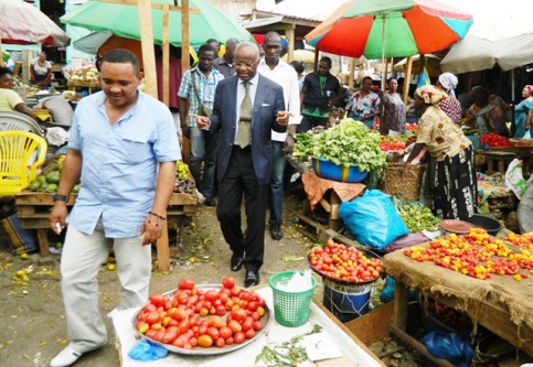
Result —
<instances>
[{"instance_id":1,"label":"round metal tray holding the foreground tomatoes, mainly its rim","mask_svg":"<svg viewBox=\"0 0 533 367\"><path fill-rule=\"evenodd\" d=\"M220 290L220 289L222 289L222 284L196 284L196 289L198 290L204 290L204 291ZM169 291L169 292L164 292L162 294L170 296L170 299L173 299L175 291L177 291L177 289ZM249 291L244 290L244 289L242 291L243 292L249 292ZM146 337L145 334L139 333L139 331L137 328L135 328L135 323L137 322L137 316L149 303L150 302L147 302L145 305L142 305L142 307L140 307L139 311L137 311L135 313L134 317L131 319L131 327L134 328L136 335L138 335L142 339L150 341L150 343L154 343L154 344L166 348L169 352L173 352L173 353L178 353L178 354L192 355L192 356L213 356L213 355L224 354L224 353L233 352L233 350L239 349L242 347L245 347L249 343L255 342L260 335L263 335L263 333L265 333L267 327L270 325L271 319L273 319L273 317L270 317L270 311L268 310L268 306L265 303L265 305L263 306L265 309L265 315L259 319L260 323L263 324L263 328L260 331L258 331L254 335L253 338L245 339L242 344L224 345L222 348L218 348L218 347L214 346L214 344L213 344L213 346L210 347L210 348L203 348L201 346L196 346L192 349L184 349L184 348L175 347L175 346L170 345L170 344L156 342L156 341L153 341L149 337ZM226 313L226 315L227 315L227 313ZM225 321L226 315L222 316L222 319L224 321ZM205 317L207 317L207 316L205 316ZM203 319L205 319L205 317L203 317Z\"/></svg>"}]
</instances>

